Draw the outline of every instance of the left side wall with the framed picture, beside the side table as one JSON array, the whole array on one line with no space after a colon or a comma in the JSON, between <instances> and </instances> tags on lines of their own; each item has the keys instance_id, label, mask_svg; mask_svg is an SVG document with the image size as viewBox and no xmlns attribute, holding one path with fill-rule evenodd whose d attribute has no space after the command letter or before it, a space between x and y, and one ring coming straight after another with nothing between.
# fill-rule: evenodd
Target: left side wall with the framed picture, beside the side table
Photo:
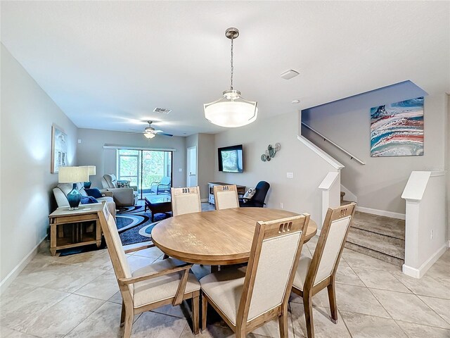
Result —
<instances>
[{"instance_id":1,"label":"left side wall with the framed picture, beside the side table","mask_svg":"<svg viewBox=\"0 0 450 338\"><path fill-rule=\"evenodd\" d=\"M68 134L75 164L77 127L1 44L1 290L46 237L53 204L51 125ZM22 262L22 263L21 263Z\"/></svg>"}]
</instances>

